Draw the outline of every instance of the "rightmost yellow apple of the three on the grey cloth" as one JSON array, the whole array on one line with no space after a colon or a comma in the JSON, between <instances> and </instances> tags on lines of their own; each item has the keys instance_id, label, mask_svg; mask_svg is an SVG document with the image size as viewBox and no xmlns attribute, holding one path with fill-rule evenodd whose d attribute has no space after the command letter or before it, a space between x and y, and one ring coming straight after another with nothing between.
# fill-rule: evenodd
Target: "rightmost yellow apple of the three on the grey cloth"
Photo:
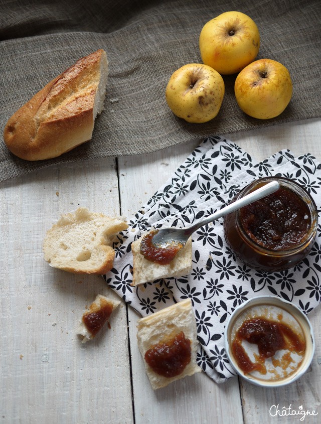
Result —
<instances>
[{"instance_id":1,"label":"rightmost yellow apple of the three on the grey cloth","mask_svg":"<svg viewBox=\"0 0 321 424\"><path fill-rule=\"evenodd\" d=\"M272 59L259 59L238 74L234 85L238 105L258 119L278 116L292 97L292 81L284 65Z\"/></svg>"}]
</instances>

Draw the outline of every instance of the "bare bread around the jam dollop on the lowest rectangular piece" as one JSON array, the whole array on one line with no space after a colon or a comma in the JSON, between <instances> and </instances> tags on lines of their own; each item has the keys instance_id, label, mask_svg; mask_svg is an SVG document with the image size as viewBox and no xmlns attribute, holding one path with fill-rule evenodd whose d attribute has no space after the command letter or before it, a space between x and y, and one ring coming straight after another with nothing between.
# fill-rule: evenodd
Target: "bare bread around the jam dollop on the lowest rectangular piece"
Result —
<instances>
[{"instance_id":1,"label":"bare bread around the jam dollop on the lowest rectangular piece","mask_svg":"<svg viewBox=\"0 0 321 424\"><path fill-rule=\"evenodd\" d=\"M166 343L180 332L191 342L191 359L183 371L174 377L166 377L155 372L146 362L146 352L157 345ZM184 300L175 305L155 312L137 321L138 348L144 361L146 374L152 388L165 387L175 380L200 372L201 368L196 363L197 355L197 330L196 320L192 309L191 299Z\"/></svg>"}]
</instances>

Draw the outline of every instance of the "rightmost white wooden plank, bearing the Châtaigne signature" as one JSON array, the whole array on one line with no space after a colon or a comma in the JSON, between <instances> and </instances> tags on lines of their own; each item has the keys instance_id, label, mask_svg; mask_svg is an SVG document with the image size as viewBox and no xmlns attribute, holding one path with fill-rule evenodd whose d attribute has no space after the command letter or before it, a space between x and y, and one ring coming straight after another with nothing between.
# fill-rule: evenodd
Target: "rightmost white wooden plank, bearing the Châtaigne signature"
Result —
<instances>
[{"instance_id":1,"label":"rightmost white wooden plank, bearing the Ch\u00e2taigne signature","mask_svg":"<svg viewBox=\"0 0 321 424\"><path fill-rule=\"evenodd\" d=\"M281 149L290 149L295 156L310 153L321 161L321 121L310 120L292 124L272 126L260 131L238 133L230 135L233 141L250 152L253 158L263 160ZM321 199L320 199L321 201ZM320 203L318 204L318 207ZM319 307L314 310L309 318L314 329L315 355L310 370L298 381L273 390L266 390L253 386L240 380L242 405L246 424L262 424L269 422L294 422L299 417L293 415L279 416L276 406L279 405L280 413L283 408L292 411L303 410L315 411L318 415L304 418L304 422L320 422L321 416L321 378L320 378L320 352L321 352L321 314ZM275 405L275 407L273 407ZM270 414L270 408L272 416ZM286 411L283 413L287 413Z\"/></svg>"}]
</instances>

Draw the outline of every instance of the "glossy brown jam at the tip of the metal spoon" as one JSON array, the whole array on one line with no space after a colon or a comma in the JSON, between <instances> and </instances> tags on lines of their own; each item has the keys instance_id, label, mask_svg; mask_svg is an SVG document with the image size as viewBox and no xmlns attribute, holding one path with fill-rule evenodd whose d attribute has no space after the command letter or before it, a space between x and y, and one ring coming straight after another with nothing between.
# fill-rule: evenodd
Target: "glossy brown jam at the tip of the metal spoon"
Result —
<instances>
[{"instance_id":1,"label":"glossy brown jam at the tip of the metal spoon","mask_svg":"<svg viewBox=\"0 0 321 424\"><path fill-rule=\"evenodd\" d=\"M151 262L167 265L175 258L177 253L182 249L182 243L168 244L166 247L156 246L152 242L152 238L158 231L150 231L140 242L140 253L145 259Z\"/></svg>"}]
</instances>

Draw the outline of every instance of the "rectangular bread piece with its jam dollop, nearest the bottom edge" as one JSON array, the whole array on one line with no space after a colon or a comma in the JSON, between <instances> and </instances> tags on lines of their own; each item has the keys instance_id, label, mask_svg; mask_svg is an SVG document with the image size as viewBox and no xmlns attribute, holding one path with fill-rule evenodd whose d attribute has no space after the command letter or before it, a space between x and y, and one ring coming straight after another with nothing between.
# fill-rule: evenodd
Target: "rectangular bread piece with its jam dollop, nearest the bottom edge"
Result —
<instances>
[{"instance_id":1,"label":"rectangular bread piece with its jam dollop, nearest the bottom edge","mask_svg":"<svg viewBox=\"0 0 321 424\"><path fill-rule=\"evenodd\" d=\"M198 340L191 299L139 319L137 341L154 390L201 371L196 363Z\"/></svg>"}]
</instances>

